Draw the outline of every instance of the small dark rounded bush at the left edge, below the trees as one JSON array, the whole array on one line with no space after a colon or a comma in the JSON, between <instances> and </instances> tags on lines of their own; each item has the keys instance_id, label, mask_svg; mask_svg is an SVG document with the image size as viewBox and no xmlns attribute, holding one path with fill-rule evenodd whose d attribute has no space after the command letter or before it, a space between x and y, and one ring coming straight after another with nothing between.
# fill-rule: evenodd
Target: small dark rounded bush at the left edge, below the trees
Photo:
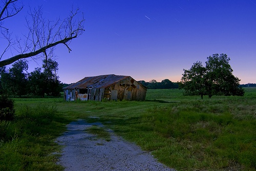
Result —
<instances>
[{"instance_id":1,"label":"small dark rounded bush at the left edge, below the trees","mask_svg":"<svg viewBox=\"0 0 256 171\"><path fill-rule=\"evenodd\" d=\"M0 120L13 120L14 118L14 102L8 99L6 95L0 97Z\"/></svg>"}]
</instances>

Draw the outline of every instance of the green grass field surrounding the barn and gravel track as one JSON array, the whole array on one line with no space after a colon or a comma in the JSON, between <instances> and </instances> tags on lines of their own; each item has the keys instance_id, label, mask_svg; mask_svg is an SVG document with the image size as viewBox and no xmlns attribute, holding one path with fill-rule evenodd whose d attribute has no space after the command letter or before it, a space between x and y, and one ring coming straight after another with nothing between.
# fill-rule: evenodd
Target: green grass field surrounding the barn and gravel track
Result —
<instances>
[{"instance_id":1,"label":"green grass field surrounding the barn and gravel track","mask_svg":"<svg viewBox=\"0 0 256 171\"><path fill-rule=\"evenodd\" d=\"M144 102L15 99L16 119L0 123L0 170L63 169L54 139L77 118L100 121L177 170L255 170L256 87L203 100L182 92L148 90Z\"/></svg>"}]
</instances>

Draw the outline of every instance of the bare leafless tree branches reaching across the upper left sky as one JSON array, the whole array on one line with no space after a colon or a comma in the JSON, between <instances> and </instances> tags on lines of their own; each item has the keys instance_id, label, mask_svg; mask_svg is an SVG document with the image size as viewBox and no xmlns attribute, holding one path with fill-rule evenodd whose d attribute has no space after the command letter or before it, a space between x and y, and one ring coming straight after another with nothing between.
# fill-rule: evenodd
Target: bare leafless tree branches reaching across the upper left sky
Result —
<instances>
[{"instance_id":1,"label":"bare leafless tree branches reaching across the upper left sky","mask_svg":"<svg viewBox=\"0 0 256 171\"><path fill-rule=\"evenodd\" d=\"M63 20L46 20L42 15L42 8L30 9L26 17L28 33L23 38L13 37L8 28L4 27L4 20L18 14L23 9L19 0L2 0L0 6L0 29L3 38L7 41L0 56L0 67L11 64L19 59L44 57L46 60L53 55L57 44L65 44L71 51L69 44L72 39L79 37L83 32L84 18L79 9L70 12ZM10 48L18 55L2 60Z\"/></svg>"}]
</instances>

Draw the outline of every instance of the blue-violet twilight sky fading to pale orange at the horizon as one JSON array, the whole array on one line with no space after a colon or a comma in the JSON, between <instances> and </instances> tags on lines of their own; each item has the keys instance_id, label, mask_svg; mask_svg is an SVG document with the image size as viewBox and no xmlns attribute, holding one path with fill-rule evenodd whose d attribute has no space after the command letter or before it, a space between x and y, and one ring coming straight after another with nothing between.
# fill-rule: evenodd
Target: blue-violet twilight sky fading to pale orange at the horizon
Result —
<instances>
[{"instance_id":1,"label":"blue-violet twilight sky fading to pale orange at the horizon","mask_svg":"<svg viewBox=\"0 0 256 171\"><path fill-rule=\"evenodd\" d=\"M86 31L72 40L69 54L57 45L59 80L73 83L97 75L135 80L180 81L183 68L212 54L227 54L241 84L256 83L256 0L24 0L12 18L13 32L26 33L29 6L42 5L50 20L84 13ZM8 24L8 23L7 23ZM19 29L17 29L19 26ZM12 29L12 28L10 28ZM2 40L1 40L2 41ZM30 61L29 71L35 62Z\"/></svg>"}]
</instances>

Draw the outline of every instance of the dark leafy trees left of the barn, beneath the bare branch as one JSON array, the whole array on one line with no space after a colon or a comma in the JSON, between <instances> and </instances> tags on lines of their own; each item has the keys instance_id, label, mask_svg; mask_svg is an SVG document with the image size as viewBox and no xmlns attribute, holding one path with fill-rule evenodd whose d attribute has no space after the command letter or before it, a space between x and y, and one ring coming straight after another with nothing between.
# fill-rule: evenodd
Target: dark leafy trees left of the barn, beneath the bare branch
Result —
<instances>
[{"instance_id":1,"label":"dark leafy trees left of the barn, beneath the bare branch","mask_svg":"<svg viewBox=\"0 0 256 171\"><path fill-rule=\"evenodd\" d=\"M43 60L42 66L27 72L28 63L18 60L12 67L0 68L0 93L7 96L45 95L58 96L62 86L57 76L58 63L52 59Z\"/></svg>"}]
</instances>

